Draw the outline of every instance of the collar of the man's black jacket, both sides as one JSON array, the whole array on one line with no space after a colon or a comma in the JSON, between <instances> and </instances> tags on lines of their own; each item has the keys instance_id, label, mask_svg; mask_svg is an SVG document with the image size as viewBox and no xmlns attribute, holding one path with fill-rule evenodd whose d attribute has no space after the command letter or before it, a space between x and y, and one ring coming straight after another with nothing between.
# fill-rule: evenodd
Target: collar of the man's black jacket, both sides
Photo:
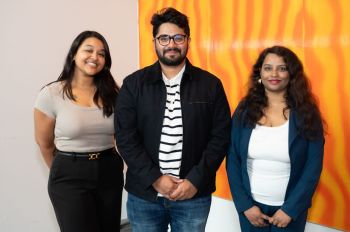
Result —
<instances>
[{"instance_id":1,"label":"collar of the man's black jacket, both sides","mask_svg":"<svg viewBox=\"0 0 350 232\"><path fill-rule=\"evenodd\" d=\"M190 63L190 61L186 58L186 68L182 77L182 80L192 80L193 65ZM147 73L147 78L145 78L145 81L148 83L156 83L158 81L163 81L162 78L162 68L160 66L159 61L156 61L154 64L149 66L149 71Z\"/></svg>"}]
</instances>

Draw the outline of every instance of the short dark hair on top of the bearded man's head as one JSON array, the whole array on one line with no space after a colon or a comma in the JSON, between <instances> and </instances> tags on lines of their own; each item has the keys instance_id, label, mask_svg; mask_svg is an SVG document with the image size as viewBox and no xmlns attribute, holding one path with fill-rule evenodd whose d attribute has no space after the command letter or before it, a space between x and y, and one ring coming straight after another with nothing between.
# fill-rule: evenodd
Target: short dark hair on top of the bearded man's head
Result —
<instances>
[{"instance_id":1,"label":"short dark hair on top of the bearded man's head","mask_svg":"<svg viewBox=\"0 0 350 232\"><path fill-rule=\"evenodd\" d=\"M184 29L187 37L190 37L190 26L188 18L178 10L168 7L164 8L152 16L151 24L153 25L153 38L158 34L158 29L163 23L172 23Z\"/></svg>"}]
</instances>

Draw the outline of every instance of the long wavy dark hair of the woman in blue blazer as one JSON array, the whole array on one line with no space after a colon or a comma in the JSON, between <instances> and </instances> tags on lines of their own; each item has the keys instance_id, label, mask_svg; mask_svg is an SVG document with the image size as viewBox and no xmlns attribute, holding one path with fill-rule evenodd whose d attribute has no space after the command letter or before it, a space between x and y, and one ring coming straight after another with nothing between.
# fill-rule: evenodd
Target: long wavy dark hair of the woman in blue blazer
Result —
<instances>
[{"instance_id":1,"label":"long wavy dark hair of the woman in blue blazer","mask_svg":"<svg viewBox=\"0 0 350 232\"><path fill-rule=\"evenodd\" d=\"M289 83L285 99L287 108L296 111L299 120L299 131L307 138L314 138L319 133L319 123L323 123L315 96L311 92L310 83L304 73L304 68L297 55L290 49L282 46L273 46L263 50L253 65L249 77L248 93L242 99L238 115L244 112L244 124L254 127L264 116L268 99L264 85L259 83L260 70L268 54L276 54L283 58L289 73Z\"/></svg>"}]
</instances>

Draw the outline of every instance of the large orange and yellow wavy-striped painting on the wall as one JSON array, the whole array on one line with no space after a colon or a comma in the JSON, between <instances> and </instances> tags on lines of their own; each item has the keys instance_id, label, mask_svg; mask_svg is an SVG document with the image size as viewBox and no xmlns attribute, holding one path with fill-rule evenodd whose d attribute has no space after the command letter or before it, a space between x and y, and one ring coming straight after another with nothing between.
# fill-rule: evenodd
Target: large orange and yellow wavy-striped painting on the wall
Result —
<instances>
[{"instance_id":1,"label":"large orange and yellow wavy-striped painting on the wall","mask_svg":"<svg viewBox=\"0 0 350 232\"><path fill-rule=\"evenodd\" d=\"M350 231L350 1L139 0L141 67L157 59L150 20L167 6L189 16L188 57L222 80L231 110L262 49L280 44L297 53L328 123L324 169L308 220ZM215 195L231 199L224 164Z\"/></svg>"}]
</instances>

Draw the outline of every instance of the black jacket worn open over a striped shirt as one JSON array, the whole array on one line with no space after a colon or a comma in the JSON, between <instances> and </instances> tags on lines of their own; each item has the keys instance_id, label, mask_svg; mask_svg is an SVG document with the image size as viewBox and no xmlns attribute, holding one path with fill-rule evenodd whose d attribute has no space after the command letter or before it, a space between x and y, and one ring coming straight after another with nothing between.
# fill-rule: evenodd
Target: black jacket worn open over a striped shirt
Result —
<instances>
[{"instance_id":1,"label":"black jacket worn open over a striped shirt","mask_svg":"<svg viewBox=\"0 0 350 232\"><path fill-rule=\"evenodd\" d=\"M230 108L220 80L186 60L180 85L183 148L180 178L197 189L195 197L215 191L215 176L230 141ZM155 201L152 184L162 175L159 145L166 87L159 62L124 79L115 112L118 150L126 162L125 188Z\"/></svg>"}]
</instances>

